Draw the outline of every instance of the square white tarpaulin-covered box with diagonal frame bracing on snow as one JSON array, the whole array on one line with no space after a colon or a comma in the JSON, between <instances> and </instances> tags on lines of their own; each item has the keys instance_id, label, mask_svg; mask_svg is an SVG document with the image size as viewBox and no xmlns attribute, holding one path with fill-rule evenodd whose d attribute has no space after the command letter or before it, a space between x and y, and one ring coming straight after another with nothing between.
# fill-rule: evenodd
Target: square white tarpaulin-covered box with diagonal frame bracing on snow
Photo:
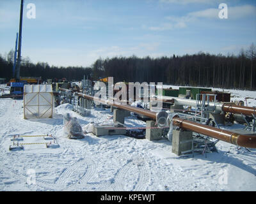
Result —
<instances>
[{"instance_id":1,"label":"square white tarpaulin-covered box with diagonal frame bracing on snow","mask_svg":"<svg viewBox=\"0 0 256 204\"><path fill-rule=\"evenodd\" d=\"M54 96L52 85L24 85L24 119L52 117Z\"/></svg>"}]
</instances>

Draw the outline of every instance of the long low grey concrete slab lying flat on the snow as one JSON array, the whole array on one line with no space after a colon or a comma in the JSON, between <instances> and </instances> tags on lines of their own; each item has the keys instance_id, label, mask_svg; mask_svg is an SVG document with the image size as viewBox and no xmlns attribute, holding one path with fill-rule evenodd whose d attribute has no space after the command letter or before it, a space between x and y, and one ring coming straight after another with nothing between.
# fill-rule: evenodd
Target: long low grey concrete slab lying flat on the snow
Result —
<instances>
[{"instance_id":1,"label":"long low grey concrete slab lying flat on the snow","mask_svg":"<svg viewBox=\"0 0 256 204\"><path fill-rule=\"evenodd\" d=\"M120 128L120 126L118 126ZM103 135L125 135L126 129L118 129L115 126L98 126L95 124L93 126L93 134L96 136L103 136ZM125 128L122 126L122 128Z\"/></svg>"}]
</instances>

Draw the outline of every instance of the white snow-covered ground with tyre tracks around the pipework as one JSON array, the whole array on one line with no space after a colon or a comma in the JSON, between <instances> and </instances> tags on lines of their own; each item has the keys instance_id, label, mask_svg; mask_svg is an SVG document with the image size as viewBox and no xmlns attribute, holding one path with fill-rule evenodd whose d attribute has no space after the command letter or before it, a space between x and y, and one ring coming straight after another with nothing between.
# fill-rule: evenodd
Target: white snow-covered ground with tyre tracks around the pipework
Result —
<instances>
[{"instance_id":1,"label":"white snow-covered ground with tyre tracks around the pipework","mask_svg":"<svg viewBox=\"0 0 256 204\"><path fill-rule=\"evenodd\" d=\"M255 92L230 92L232 99L250 97L248 105L256 105ZM65 113L86 129L92 122L111 122L110 110L92 110L90 117L81 117L65 104L54 108L52 119L24 120L22 106L22 100L0 99L0 191L256 191L256 150L218 142L218 152L207 157L179 157L166 139L150 142L88 133L82 140L69 140L63 136ZM145 127L134 116L125 118L125 124ZM10 151L13 134L52 134L60 147L25 145L24 150ZM26 142L45 140L24 138Z\"/></svg>"}]
</instances>

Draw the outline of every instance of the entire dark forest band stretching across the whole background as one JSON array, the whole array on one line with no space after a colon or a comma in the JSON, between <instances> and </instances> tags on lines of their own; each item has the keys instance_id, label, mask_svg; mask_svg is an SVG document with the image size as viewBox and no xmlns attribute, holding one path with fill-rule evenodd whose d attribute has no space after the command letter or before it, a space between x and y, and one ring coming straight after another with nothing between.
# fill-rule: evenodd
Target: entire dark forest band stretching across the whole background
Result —
<instances>
[{"instance_id":1,"label":"entire dark forest band stretching across the whole background","mask_svg":"<svg viewBox=\"0 0 256 204\"><path fill-rule=\"evenodd\" d=\"M13 50L0 55L0 77L12 78ZM91 67L57 67L45 62L33 64L22 59L22 77L67 78L92 80L114 77L115 82L163 82L170 85L218 87L226 89L256 89L256 47L241 50L239 55L212 55L199 52L193 55L171 57L112 57L97 59Z\"/></svg>"}]
</instances>

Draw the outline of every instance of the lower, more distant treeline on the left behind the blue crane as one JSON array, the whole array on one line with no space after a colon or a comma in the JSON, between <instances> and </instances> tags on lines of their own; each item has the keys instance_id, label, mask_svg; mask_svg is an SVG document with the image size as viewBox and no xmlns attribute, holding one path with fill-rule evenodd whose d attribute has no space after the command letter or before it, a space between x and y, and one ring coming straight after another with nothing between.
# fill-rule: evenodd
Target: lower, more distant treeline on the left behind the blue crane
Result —
<instances>
[{"instance_id":1,"label":"lower, more distant treeline on the left behind the blue crane","mask_svg":"<svg viewBox=\"0 0 256 204\"><path fill-rule=\"evenodd\" d=\"M6 57L0 55L0 77L9 81L13 78L13 51L11 50ZM21 77L42 77L42 80L67 78L67 80L82 80L83 77L92 77L92 68L83 67L57 67L49 66L45 62L33 64L28 57L22 59L20 65Z\"/></svg>"}]
</instances>

